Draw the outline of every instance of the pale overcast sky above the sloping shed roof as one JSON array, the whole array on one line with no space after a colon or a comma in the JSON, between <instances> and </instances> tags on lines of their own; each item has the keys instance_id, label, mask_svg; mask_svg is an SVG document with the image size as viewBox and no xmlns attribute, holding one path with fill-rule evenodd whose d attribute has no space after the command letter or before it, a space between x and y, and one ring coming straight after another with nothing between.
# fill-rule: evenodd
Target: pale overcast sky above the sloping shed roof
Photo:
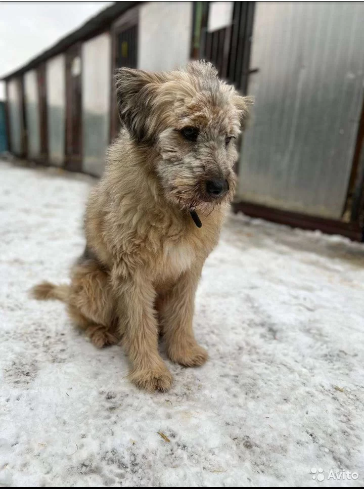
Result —
<instances>
[{"instance_id":1,"label":"pale overcast sky above the sloping shed roof","mask_svg":"<svg viewBox=\"0 0 364 489\"><path fill-rule=\"evenodd\" d=\"M0 77L25 64L113 2L0 2ZM0 100L5 98L0 82Z\"/></svg>"}]
</instances>

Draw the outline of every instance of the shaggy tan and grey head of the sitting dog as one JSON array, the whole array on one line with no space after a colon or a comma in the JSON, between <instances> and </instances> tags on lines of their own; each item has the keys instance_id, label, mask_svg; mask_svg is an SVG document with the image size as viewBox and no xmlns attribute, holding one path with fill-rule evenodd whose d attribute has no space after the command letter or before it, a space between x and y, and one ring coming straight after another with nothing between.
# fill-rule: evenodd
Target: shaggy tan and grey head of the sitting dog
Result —
<instances>
[{"instance_id":1,"label":"shaggy tan and grey head of the sitting dog","mask_svg":"<svg viewBox=\"0 0 364 489\"><path fill-rule=\"evenodd\" d=\"M250 99L203 61L164 73L121 68L115 80L130 137L160 155L155 171L166 198L188 209L231 200L236 140Z\"/></svg>"}]
</instances>

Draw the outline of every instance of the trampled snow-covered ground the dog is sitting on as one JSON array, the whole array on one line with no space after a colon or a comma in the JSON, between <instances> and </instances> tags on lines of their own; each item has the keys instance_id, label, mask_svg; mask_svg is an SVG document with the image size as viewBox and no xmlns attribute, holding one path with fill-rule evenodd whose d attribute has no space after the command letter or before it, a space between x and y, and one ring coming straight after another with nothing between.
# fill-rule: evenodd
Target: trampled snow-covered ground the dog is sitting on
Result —
<instances>
[{"instance_id":1,"label":"trampled snow-covered ground the dog is sitting on","mask_svg":"<svg viewBox=\"0 0 364 489\"><path fill-rule=\"evenodd\" d=\"M363 246L231 216L196 301L210 360L148 394L28 297L67 280L92 183L0 164L0 485L363 486Z\"/></svg>"}]
</instances>

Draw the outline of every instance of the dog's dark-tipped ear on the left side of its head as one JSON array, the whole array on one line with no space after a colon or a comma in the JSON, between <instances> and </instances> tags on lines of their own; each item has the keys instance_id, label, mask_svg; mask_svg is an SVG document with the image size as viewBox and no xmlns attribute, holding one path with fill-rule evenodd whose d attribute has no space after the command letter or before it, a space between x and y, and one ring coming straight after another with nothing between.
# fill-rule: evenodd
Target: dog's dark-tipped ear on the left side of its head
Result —
<instances>
[{"instance_id":1,"label":"dog's dark-tipped ear on the left side of its head","mask_svg":"<svg viewBox=\"0 0 364 489\"><path fill-rule=\"evenodd\" d=\"M153 137L148 118L158 86L165 81L161 73L120 68L114 73L121 122L134 141L148 143Z\"/></svg>"}]
</instances>

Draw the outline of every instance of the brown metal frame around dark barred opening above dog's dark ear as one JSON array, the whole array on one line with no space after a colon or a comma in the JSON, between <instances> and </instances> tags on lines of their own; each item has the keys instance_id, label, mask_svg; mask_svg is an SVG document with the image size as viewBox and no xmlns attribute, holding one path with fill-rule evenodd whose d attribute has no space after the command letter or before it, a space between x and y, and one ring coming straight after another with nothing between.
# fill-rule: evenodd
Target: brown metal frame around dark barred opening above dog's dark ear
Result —
<instances>
[{"instance_id":1,"label":"brown metal frame around dark barred opening above dog's dark ear","mask_svg":"<svg viewBox=\"0 0 364 489\"><path fill-rule=\"evenodd\" d=\"M117 19L112 25L110 29L111 35L111 90L110 90L110 142L112 142L117 134L118 134L118 109L116 102L116 92L115 92L115 84L114 84L114 71L117 66L118 52L117 52L117 39L118 35L124 30L129 29L130 27L136 26L137 32L137 45L136 51L138 56L138 27L139 27L139 6L134 7L125 14L123 14L119 19ZM138 66L138 60L136 62Z\"/></svg>"}]
</instances>

